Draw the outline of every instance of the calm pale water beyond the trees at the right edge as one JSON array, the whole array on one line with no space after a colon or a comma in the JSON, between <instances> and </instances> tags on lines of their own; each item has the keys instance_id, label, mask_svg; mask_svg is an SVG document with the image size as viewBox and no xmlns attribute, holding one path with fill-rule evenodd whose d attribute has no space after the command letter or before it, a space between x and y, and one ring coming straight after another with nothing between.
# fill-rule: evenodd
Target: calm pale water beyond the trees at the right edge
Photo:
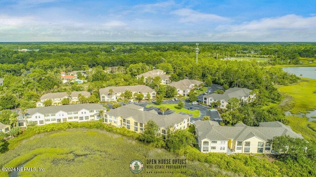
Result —
<instances>
[{"instance_id":1,"label":"calm pale water beyond the trees at the right edge","mask_svg":"<svg viewBox=\"0 0 316 177\"><path fill-rule=\"evenodd\" d=\"M303 78L316 79L316 67L282 67L283 71Z\"/></svg>"}]
</instances>

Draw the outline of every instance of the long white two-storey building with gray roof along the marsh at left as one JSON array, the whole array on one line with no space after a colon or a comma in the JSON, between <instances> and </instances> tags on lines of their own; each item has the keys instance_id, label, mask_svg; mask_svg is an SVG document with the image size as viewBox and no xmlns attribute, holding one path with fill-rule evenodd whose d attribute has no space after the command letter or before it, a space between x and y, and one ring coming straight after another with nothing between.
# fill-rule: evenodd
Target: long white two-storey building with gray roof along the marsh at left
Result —
<instances>
[{"instance_id":1,"label":"long white two-storey building with gray roof along the marsh at left","mask_svg":"<svg viewBox=\"0 0 316 177\"><path fill-rule=\"evenodd\" d=\"M100 118L100 110L106 111L106 108L100 104L73 104L61 106L47 106L30 108L25 115L19 113L19 126L26 126L34 122L36 125L45 125L49 123L69 122L69 121L89 121Z\"/></svg>"}]
</instances>

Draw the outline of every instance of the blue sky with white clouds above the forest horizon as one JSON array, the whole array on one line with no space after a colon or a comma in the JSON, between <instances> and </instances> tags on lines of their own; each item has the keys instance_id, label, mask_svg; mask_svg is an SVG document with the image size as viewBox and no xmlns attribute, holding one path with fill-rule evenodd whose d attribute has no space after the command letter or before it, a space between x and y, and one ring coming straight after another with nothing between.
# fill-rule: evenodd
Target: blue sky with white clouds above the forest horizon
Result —
<instances>
[{"instance_id":1,"label":"blue sky with white clouds above the forest horizon","mask_svg":"<svg viewBox=\"0 0 316 177\"><path fill-rule=\"evenodd\" d=\"M0 0L0 42L316 42L316 0Z\"/></svg>"}]
</instances>

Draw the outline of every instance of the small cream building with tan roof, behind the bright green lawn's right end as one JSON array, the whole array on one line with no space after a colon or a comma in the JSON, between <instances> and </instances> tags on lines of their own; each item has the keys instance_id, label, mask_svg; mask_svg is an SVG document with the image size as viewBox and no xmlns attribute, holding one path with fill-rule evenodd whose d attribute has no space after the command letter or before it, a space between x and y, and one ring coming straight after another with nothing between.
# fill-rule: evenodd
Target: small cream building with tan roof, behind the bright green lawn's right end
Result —
<instances>
[{"instance_id":1,"label":"small cream building with tan roof, behind the bright green lawn's right end","mask_svg":"<svg viewBox=\"0 0 316 177\"><path fill-rule=\"evenodd\" d=\"M188 93L192 89L200 88L202 81L192 80L192 79L183 79L178 82L172 82L170 86L173 86L177 89L178 95L188 96Z\"/></svg>"}]
</instances>

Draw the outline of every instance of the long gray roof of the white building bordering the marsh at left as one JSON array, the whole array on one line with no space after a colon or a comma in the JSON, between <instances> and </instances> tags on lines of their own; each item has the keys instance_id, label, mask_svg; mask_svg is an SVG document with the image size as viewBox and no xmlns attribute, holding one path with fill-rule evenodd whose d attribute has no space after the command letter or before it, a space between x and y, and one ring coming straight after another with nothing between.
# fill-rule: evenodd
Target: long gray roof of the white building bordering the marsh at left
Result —
<instances>
[{"instance_id":1,"label":"long gray roof of the white building bordering the marsh at left","mask_svg":"<svg viewBox=\"0 0 316 177\"><path fill-rule=\"evenodd\" d=\"M32 116L36 113L40 114L54 114L59 111L64 112L75 112L80 111L82 109L86 110L105 110L106 108L100 104L71 104L71 105L60 105L60 106L46 106L46 107L37 107L37 108L30 108L27 110L26 115ZM19 113L20 114L20 113ZM20 114L21 115L21 114Z\"/></svg>"}]
</instances>

